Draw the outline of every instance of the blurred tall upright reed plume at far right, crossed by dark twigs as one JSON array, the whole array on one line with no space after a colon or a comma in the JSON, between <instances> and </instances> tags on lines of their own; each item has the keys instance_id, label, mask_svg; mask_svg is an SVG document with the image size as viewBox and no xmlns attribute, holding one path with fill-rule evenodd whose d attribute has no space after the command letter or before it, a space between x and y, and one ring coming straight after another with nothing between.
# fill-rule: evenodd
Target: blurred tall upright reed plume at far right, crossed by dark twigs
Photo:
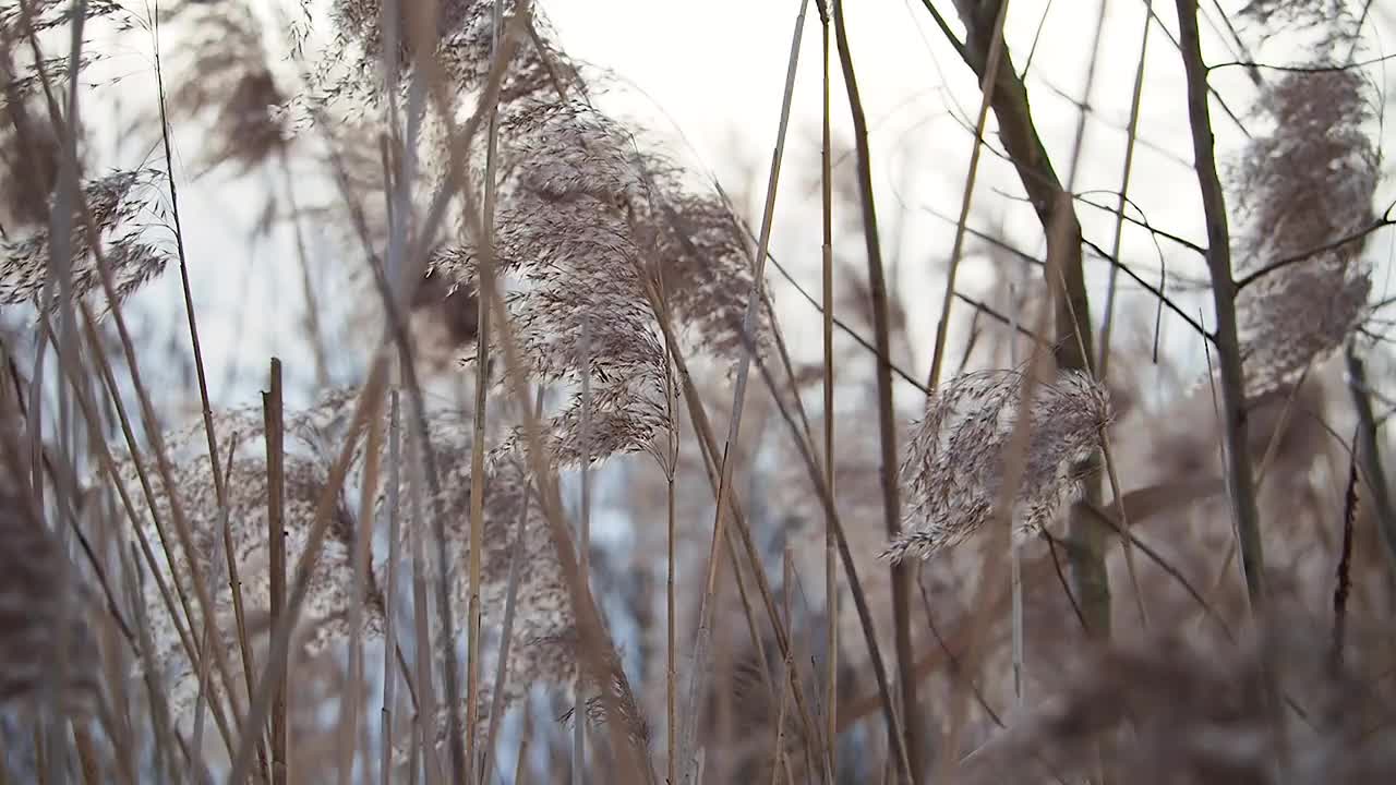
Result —
<instances>
[{"instance_id":1,"label":"blurred tall upright reed plume at far right, crossed by dark twigs","mask_svg":"<svg viewBox=\"0 0 1396 785\"><path fill-rule=\"evenodd\" d=\"M1356 70L1283 74L1262 108L1273 130L1249 142L1233 179L1238 272L1283 264L1237 296L1252 397L1291 384L1362 321L1372 281L1361 233L1379 163L1365 127L1368 84Z\"/></svg>"}]
</instances>

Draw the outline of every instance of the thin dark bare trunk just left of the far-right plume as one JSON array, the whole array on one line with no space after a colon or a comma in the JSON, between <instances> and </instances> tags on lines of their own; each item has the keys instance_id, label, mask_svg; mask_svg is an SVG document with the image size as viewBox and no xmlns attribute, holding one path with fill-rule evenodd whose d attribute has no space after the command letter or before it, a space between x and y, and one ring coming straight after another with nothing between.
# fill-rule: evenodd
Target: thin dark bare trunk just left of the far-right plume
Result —
<instances>
[{"instance_id":1,"label":"thin dark bare trunk just left of the far-right plume","mask_svg":"<svg viewBox=\"0 0 1396 785\"><path fill-rule=\"evenodd\" d=\"M1251 455L1247 450L1245 373L1237 338L1235 293L1231 277L1231 233L1227 226L1226 196L1217 177L1212 116L1208 108L1208 71L1202 60L1198 34L1196 0L1177 0L1178 38L1182 66L1188 77L1188 117L1192 126L1192 154L1202 191L1208 226L1208 270L1212 275L1212 300L1216 307L1217 366L1222 373L1222 408L1226 429L1226 475L1231 485L1231 510L1235 515L1241 549L1241 568L1252 613L1265 610L1265 553L1261 541L1261 514L1255 501Z\"/></svg>"}]
</instances>

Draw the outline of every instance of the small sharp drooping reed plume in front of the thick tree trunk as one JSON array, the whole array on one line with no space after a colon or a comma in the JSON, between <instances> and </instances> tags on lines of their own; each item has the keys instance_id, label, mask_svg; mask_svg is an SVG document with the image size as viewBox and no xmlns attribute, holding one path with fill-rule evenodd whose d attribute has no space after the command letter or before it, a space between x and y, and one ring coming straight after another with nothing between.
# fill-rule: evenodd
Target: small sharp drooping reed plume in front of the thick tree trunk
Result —
<instances>
[{"instance_id":1,"label":"small sharp drooping reed plume in front of the thick tree trunk","mask_svg":"<svg viewBox=\"0 0 1396 785\"><path fill-rule=\"evenodd\" d=\"M993 517L1004 462L1019 422L1026 376L1019 370L967 373L926 404L902 464L910 493L903 534L882 559L928 559L958 545ZM1079 490L1081 467L1111 420L1106 388L1065 372L1033 387L1030 441L1013 504L1022 529L1043 528L1057 506Z\"/></svg>"}]
</instances>

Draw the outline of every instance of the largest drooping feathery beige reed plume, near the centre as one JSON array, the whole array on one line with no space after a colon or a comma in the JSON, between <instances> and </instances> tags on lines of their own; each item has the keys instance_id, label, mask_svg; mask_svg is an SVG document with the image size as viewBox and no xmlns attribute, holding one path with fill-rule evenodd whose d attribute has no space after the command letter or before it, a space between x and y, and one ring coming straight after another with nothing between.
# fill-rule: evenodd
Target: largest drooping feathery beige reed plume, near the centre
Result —
<instances>
[{"instance_id":1,"label":"largest drooping feathery beige reed plume, near the centre","mask_svg":"<svg viewBox=\"0 0 1396 785\"><path fill-rule=\"evenodd\" d=\"M738 352L752 275L740 225L584 103L519 106L501 134L510 175L494 253L519 281L510 316L530 370L554 384L591 376L592 460L653 451L669 425L669 384L646 293L663 286L669 317L698 332L699 348ZM476 253L445 249L434 270L473 285ZM578 395L550 423L564 465L584 458L581 413Z\"/></svg>"}]
</instances>

